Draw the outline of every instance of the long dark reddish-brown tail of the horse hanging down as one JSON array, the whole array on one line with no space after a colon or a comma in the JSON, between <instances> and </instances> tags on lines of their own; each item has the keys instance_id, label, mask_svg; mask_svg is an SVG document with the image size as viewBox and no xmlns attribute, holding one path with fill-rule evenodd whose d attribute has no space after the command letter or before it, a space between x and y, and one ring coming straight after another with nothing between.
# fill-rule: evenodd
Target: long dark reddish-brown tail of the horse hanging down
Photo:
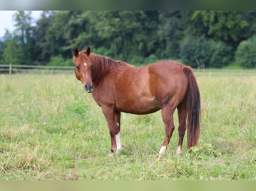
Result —
<instances>
[{"instance_id":1,"label":"long dark reddish-brown tail of the horse hanging down","mask_svg":"<svg viewBox=\"0 0 256 191\"><path fill-rule=\"evenodd\" d=\"M197 144L200 136L200 92L191 67L184 66L182 69L187 77L187 149L189 149Z\"/></svg>"}]
</instances>

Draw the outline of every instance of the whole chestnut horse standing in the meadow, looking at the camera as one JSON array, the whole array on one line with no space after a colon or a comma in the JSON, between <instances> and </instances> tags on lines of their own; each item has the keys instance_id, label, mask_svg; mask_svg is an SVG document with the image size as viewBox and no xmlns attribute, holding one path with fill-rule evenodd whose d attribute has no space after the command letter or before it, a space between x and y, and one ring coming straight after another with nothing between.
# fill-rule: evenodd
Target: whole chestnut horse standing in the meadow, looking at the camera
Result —
<instances>
[{"instance_id":1,"label":"whole chestnut horse standing in the meadow, looking at the camera","mask_svg":"<svg viewBox=\"0 0 256 191\"><path fill-rule=\"evenodd\" d=\"M160 61L134 67L122 60L91 53L91 48L74 49L73 62L76 78L102 108L111 136L109 156L121 152L121 112L149 114L161 109L165 137L158 159L167 149L174 130L173 113L178 111L181 147L187 128L187 149L197 144L200 136L200 91L193 70L174 61ZM186 125L187 119L187 125Z\"/></svg>"}]
</instances>

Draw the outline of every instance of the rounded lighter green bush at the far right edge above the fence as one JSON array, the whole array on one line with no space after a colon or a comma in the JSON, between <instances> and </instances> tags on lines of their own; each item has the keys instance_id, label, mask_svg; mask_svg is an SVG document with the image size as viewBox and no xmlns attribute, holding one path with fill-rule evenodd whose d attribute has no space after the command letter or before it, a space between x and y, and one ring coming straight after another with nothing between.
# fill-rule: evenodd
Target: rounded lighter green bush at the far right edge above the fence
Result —
<instances>
[{"instance_id":1,"label":"rounded lighter green bush at the far right edge above the fence","mask_svg":"<svg viewBox=\"0 0 256 191\"><path fill-rule=\"evenodd\" d=\"M244 68L256 67L256 35L242 41L236 51L236 63Z\"/></svg>"}]
</instances>

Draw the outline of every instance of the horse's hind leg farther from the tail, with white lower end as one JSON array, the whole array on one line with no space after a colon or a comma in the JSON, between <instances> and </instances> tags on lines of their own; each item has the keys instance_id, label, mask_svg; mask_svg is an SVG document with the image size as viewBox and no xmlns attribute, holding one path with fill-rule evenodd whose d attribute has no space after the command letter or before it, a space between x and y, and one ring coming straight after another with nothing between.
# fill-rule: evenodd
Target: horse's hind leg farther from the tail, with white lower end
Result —
<instances>
[{"instance_id":1,"label":"horse's hind leg farther from the tail, with white lower end","mask_svg":"<svg viewBox=\"0 0 256 191\"><path fill-rule=\"evenodd\" d=\"M163 145L159 151L158 159L160 159L161 155L166 151L167 145L172 136L172 132L175 128L173 123L174 110L175 110L175 107L172 108L172 107L169 107L168 105L162 107L162 119L165 126L165 137L164 137Z\"/></svg>"}]
</instances>

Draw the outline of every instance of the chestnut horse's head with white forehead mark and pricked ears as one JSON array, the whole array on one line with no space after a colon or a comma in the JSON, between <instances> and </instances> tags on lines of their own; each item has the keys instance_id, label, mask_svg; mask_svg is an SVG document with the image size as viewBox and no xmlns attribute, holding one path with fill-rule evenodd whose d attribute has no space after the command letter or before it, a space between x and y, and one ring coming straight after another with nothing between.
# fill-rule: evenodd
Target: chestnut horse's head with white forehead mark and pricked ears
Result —
<instances>
[{"instance_id":1,"label":"chestnut horse's head with white forehead mark and pricked ears","mask_svg":"<svg viewBox=\"0 0 256 191\"><path fill-rule=\"evenodd\" d=\"M89 59L91 54L91 49L88 47L85 51L79 52L76 47L74 50L74 63L75 63L75 73L78 80L80 80L85 90L88 93L93 92L92 83L92 63Z\"/></svg>"}]
</instances>

